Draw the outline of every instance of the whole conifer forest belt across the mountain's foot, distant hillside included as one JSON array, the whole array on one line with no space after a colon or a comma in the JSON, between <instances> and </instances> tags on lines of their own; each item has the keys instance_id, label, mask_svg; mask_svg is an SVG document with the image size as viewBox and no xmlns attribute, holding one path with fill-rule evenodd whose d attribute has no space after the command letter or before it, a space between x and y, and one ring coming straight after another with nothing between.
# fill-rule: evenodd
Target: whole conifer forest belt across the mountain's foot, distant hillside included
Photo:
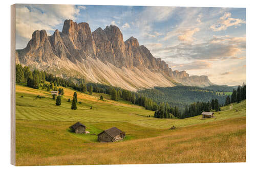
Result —
<instances>
[{"instance_id":1,"label":"whole conifer forest belt across the mountain's foot, distant hillside included","mask_svg":"<svg viewBox=\"0 0 256 170\"><path fill-rule=\"evenodd\" d=\"M16 65L16 83L32 88L41 87L48 91L56 90L62 95L64 94L63 88L58 89L58 86L70 87L81 92L88 91L90 94L93 92L105 93L111 95L111 100L122 99L143 106L147 110L153 110L155 111L154 116L157 118L186 118L211 109L220 111L221 106L234 102L239 103L246 97L245 85L238 86L237 90L233 89L232 95L194 86L155 87L133 92L120 87L86 82L84 79L59 78L46 71L37 69L31 71L28 66L23 67L20 64ZM61 101L58 99L56 105L60 104ZM77 109L73 105L73 109Z\"/></svg>"}]
</instances>

